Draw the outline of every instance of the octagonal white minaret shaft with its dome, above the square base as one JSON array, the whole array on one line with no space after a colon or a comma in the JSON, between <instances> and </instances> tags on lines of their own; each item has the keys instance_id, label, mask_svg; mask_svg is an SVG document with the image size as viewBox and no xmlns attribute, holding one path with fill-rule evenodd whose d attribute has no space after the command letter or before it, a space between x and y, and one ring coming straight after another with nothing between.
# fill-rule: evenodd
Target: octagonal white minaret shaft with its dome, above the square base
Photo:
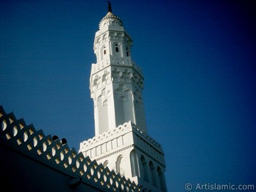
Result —
<instances>
[{"instance_id":1,"label":"octagonal white minaret shaft with its dome, above the square base","mask_svg":"<svg viewBox=\"0 0 256 192\"><path fill-rule=\"evenodd\" d=\"M131 58L132 39L122 20L108 12L95 34L90 92L94 103L95 135L133 122L147 132L143 107L143 76Z\"/></svg>"}]
</instances>

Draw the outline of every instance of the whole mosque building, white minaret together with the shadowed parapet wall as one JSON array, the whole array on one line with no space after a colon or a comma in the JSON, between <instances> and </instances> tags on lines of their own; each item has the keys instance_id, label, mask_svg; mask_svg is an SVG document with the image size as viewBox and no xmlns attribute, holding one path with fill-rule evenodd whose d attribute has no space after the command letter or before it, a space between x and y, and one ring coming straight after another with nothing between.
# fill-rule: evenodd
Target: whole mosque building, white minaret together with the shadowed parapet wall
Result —
<instances>
[{"instance_id":1,"label":"whole mosque building, white minaret together with the shadowed parapet wall","mask_svg":"<svg viewBox=\"0 0 256 192\"><path fill-rule=\"evenodd\" d=\"M164 152L147 134L143 75L132 38L108 13L95 33L90 93L95 136L79 152L0 107L1 186L7 191L167 191Z\"/></svg>"}]
</instances>

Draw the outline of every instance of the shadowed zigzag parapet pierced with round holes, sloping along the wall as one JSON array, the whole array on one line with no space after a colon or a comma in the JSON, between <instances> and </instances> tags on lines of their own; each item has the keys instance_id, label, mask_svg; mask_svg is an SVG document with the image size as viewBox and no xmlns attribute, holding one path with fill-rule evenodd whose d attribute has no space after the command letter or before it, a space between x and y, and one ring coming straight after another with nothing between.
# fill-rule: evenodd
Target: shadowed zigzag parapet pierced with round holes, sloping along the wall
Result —
<instances>
[{"instance_id":1,"label":"shadowed zigzag parapet pierced with round holes, sloping along the wall","mask_svg":"<svg viewBox=\"0 0 256 192\"><path fill-rule=\"evenodd\" d=\"M45 136L42 130L36 131L33 125L26 125L23 119L16 120L13 113L6 114L2 106L0 124L0 145L15 148L73 178L79 178L84 183L93 183L96 188L104 191L148 191L121 177L119 173L110 171L108 167L104 168L102 164L91 161L90 157L77 154L74 148L68 148L65 140ZM125 129L124 125L123 127L120 129Z\"/></svg>"}]
</instances>

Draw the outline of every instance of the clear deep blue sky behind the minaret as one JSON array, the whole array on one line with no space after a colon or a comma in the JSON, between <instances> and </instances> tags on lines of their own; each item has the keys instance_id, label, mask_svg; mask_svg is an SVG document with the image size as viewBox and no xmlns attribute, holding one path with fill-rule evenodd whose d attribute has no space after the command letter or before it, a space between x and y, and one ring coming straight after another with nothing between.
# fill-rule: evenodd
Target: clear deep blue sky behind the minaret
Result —
<instances>
[{"instance_id":1,"label":"clear deep blue sky behind the minaret","mask_svg":"<svg viewBox=\"0 0 256 192\"><path fill-rule=\"evenodd\" d=\"M253 1L111 1L145 77L169 191L256 184ZM0 1L0 104L69 147L94 136L89 77L107 1Z\"/></svg>"}]
</instances>

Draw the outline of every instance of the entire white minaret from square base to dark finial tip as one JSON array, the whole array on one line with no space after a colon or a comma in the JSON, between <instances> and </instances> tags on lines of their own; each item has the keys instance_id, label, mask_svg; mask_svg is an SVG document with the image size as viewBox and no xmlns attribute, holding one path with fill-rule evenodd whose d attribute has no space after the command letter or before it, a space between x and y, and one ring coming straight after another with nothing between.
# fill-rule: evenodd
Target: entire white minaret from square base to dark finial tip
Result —
<instances>
[{"instance_id":1,"label":"entire white minaret from square base to dark finial tip","mask_svg":"<svg viewBox=\"0 0 256 192\"><path fill-rule=\"evenodd\" d=\"M97 63L92 64L90 91L95 137L80 143L79 152L136 184L166 191L164 152L147 134L143 76L131 59L131 47L131 36L109 3L93 45Z\"/></svg>"}]
</instances>

